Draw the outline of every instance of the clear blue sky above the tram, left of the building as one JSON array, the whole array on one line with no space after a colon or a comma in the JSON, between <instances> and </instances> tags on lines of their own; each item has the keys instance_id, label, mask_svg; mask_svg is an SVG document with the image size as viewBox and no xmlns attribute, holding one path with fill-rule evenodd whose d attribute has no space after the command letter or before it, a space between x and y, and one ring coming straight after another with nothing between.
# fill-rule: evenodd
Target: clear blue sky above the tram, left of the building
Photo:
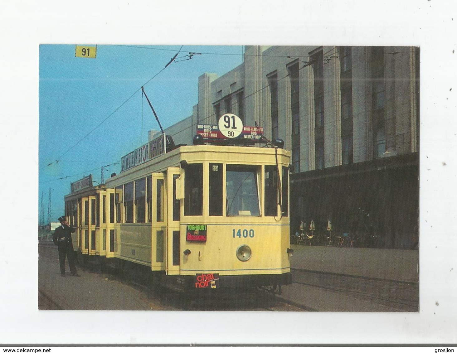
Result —
<instances>
[{"instance_id":1,"label":"clear blue sky above the tram, left of the building","mask_svg":"<svg viewBox=\"0 0 457 353\"><path fill-rule=\"evenodd\" d=\"M100 182L102 165L110 164L105 179L119 173L119 164L113 163L145 143L148 130L159 130L146 99L142 100L142 85L166 128L191 115L201 74L222 75L243 62L242 46L185 45L176 62L150 80L180 48L98 45L93 59L76 58L74 45L40 45L37 196L41 215L43 195L45 223L49 188L52 221L56 221L64 213L64 195L69 194L71 182L89 174ZM189 52L202 55L183 60Z\"/></svg>"}]
</instances>

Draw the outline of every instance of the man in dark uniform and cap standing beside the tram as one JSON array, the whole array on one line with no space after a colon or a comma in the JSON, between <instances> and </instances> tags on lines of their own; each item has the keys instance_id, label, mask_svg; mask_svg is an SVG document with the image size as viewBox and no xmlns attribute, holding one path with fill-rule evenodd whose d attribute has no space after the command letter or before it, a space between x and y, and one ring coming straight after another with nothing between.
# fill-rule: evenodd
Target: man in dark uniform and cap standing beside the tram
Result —
<instances>
[{"instance_id":1,"label":"man in dark uniform and cap standing beside the tram","mask_svg":"<svg viewBox=\"0 0 457 353\"><path fill-rule=\"evenodd\" d=\"M53 242L58 247L58 259L60 262L60 274L65 277L65 256L68 258L68 264L70 266L70 273L73 276L80 277L80 274L76 273L76 266L74 264L74 250L73 242L71 241L71 233L76 231L76 228L71 227L66 216L58 218L60 226L56 228L53 235Z\"/></svg>"}]
</instances>

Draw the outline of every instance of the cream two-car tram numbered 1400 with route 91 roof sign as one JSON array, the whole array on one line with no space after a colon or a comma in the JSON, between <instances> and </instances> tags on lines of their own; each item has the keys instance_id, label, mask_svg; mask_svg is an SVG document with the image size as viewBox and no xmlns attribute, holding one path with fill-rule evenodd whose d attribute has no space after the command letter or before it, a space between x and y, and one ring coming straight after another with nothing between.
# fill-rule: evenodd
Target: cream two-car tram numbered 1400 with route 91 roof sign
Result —
<instances>
[{"instance_id":1,"label":"cream two-car tram numbered 1400 with route 91 roof sign","mask_svg":"<svg viewBox=\"0 0 457 353\"><path fill-rule=\"evenodd\" d=\"M71 184L65 214L78 258L156 288L281 290L292 281L289 163L281 140L232 114L198 125L192 146L162 133L105 184Z\"/></svg>"}]
</instances>

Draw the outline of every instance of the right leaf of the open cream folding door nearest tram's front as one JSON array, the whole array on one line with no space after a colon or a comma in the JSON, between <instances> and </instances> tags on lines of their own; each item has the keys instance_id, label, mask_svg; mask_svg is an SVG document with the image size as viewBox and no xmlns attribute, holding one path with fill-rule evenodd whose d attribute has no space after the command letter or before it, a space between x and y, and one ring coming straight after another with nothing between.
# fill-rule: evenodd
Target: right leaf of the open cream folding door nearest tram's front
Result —
<instances>
[{"instance_id":1,"label":"right leaf of the open cream folding door nearest tram's front","mask_svg":"<svg viewBox=\"0 0 457 353\"><path fill-rule=\"evenodd\" d=\"M176 184L180 177L179 167L167 169L167 274L179 274L180 265L180 205L181 200L176 199Z\"/></svg>"}]
</instances>

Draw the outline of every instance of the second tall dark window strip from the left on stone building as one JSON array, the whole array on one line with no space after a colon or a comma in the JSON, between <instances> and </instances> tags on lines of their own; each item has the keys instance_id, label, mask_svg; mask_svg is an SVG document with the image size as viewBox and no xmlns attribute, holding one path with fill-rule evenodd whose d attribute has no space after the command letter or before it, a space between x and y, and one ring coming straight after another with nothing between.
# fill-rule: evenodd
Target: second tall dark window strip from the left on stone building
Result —
<instances>
[{"instance_id":1,"label":"second tall dark window strip from the left on stone building","mask_svg":"<svg viewBox=\"0 0 457 353\"><path fill-rule=\"evenodd\" d=\"M292 172L300 172L300 85L298 79L298 63L288 68L291 88L292 113Z\"/></svg>"}]
</instances>

